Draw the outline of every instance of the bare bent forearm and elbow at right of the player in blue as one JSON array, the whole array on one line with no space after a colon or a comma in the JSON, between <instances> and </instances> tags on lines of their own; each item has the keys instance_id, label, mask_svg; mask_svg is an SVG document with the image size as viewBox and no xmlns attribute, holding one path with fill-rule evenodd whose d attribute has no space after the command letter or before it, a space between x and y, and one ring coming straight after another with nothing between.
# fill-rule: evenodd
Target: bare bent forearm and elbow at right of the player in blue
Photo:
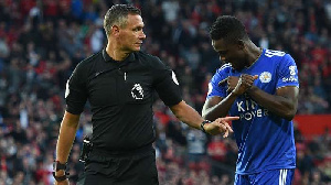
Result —
<instances>
[{"instance_id":1,"label":"bare bent forearm and elbow at right of the player in blue","mask_svg":"<svg viewBox=\"0 0 331 185\"><path fill-rule=\"evenodd\" d=\"M297 112L299 96L298 87L281 87L277 89L276 95L270 95L258 87L253 86L247 92L258 105L267 108L270 112L281 118L292 120Z\"/></svg>"}]
</instances>

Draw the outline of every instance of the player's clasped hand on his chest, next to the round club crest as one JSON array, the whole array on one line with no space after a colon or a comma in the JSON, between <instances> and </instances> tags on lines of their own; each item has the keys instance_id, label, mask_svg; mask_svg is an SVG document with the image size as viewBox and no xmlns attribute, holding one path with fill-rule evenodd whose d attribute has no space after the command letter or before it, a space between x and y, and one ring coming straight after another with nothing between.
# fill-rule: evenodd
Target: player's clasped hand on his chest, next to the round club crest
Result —
<instances>
[{"instance_id":1,"label":"player's clasped hand on his chest, next to the round club crest","mask_svg":"<svg viewBox=\"0 0 331 185\"><path fill-rule=\"evenodd\" d=\"M257 75L252 76L247 74L242 74L239 78L231 76L227 79L227 91L232 91L235 95L243 95L246 90L252 88L253 83L257 77Z\"/></svg>"}]
</instances>

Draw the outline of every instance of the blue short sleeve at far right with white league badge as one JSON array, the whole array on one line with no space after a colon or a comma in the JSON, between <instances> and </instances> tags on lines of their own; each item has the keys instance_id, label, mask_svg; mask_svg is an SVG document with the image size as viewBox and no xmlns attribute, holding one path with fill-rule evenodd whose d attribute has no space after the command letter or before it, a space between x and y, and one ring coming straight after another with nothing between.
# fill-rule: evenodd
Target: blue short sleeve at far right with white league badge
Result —
<instances>
[{"instance_id":1,"label":"blue short sleeve at far right with white league badge","mask_svg":"<svg viewBox=\"0 0 331 185\"><path fill-rule=\"evenodd\" d=\"M299 87L298 68L295 59L289 54L284 56L284 59L278 66L277 75L277 88L285 86Z\"/></svg>"}]
</instances>

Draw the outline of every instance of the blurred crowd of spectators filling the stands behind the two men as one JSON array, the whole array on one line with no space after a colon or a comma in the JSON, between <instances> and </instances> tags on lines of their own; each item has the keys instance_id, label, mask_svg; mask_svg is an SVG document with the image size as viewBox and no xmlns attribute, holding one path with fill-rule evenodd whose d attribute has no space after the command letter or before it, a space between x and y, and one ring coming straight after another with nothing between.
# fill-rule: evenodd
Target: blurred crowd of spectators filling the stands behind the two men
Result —
<instances>
[{"instance_id":1,"label":"blurred crowd of spectators filling the stands behind the two men","mask_svg":"<svg viewBox=\"0 0 331 185\"><path fill-rule=\"evenodd\" d=\"M331 1L329 0L0 0L0 185L53 184L52 162L64 89L74 67L106 44L103 19L113 3L142 10L142 50L175 72L184 100L201 111L207 83L222 64L209 28L221 14L241 19L253 42L295 58L298 113L331 113ZM209 137L179 122L157 100L157 164L162 185L233 183L233 137ZM88 105L70 156L72 184L83 137L92 132ZM296 129L295 185L330 185L331 133Z\"/></svg>"}]
</instances>

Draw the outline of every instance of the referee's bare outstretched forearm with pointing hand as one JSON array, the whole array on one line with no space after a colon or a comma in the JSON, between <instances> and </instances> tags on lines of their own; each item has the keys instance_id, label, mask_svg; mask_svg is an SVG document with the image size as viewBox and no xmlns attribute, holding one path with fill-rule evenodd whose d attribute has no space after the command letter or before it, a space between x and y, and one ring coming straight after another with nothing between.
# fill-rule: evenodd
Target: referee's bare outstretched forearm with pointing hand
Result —
<instances>
[{"instance_id":1,"label":"referee's bare outstretched forearm with pointing hand","mask_svg":"<svg viewBox=\"0 0 331 185\"><path fill-rule=\"evenodd\" d=\"M180 101L179 104L170 107L171 111L174 116L181 120L182 122L186 123L188 126L201 129L201 123L204 119L197 113L195 109L191 106L186 105L185 101ZM204 124L204 130L210 134L218 134L224 133L224 137L227 137L228 132L233 132L231 127L228 126L228 121L237 120L238 117L226 117L226 118L218 118L212 123Z\"/></svg>"}]
</instances>

